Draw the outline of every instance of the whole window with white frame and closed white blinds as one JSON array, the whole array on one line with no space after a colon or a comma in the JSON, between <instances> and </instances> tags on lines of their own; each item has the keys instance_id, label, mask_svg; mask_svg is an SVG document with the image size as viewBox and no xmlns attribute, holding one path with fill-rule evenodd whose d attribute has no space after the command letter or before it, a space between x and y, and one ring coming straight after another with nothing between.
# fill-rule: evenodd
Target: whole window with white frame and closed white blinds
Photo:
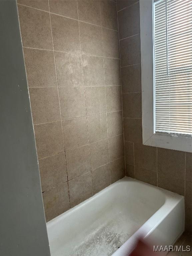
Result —
<instances>
[{"instance_id":1,"label":"whole window with white frame and closed white blinds","mask_svg":"<svg viewBox=\"0 0 192 256\"><path fill-rule=\"evenodd\" d=\"M143 144L192 152L192 0L140 0Z\"/></svg>"}]
</instances>

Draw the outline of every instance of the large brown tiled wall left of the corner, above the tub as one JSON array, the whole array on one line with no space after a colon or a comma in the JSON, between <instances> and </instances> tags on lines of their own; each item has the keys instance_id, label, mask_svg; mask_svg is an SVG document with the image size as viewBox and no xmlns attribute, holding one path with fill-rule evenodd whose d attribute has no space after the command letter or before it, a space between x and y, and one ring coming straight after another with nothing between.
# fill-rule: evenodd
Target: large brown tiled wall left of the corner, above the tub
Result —
<instances>
[{"instance_id":1,"label":"large brown tiled wall left of the corner, above the tub","mask_svg":"<svg viewBox=\"0 0 192 256\"><path fill-rule=\"evenodd\" d=\"M49 221L125 176L117 7L17 3Z\"/></svg>"}]
</instances>

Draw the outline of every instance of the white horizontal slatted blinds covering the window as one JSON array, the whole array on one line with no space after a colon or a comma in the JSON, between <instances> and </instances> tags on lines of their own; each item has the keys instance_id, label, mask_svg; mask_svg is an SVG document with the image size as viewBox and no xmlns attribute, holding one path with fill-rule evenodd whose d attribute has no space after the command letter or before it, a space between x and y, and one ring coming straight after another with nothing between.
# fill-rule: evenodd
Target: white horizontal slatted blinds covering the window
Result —
<instances>
[{"instance_id":1,"label":"white horizontal slatted blinds covering the window","mask_svg":"<svg viewBox=\"0 0 192 256\"><path fill-rule=\"evenodd\" d=\"M155 132L192 135L192 0L153 7Z\"/></svg>"}]
</instances>

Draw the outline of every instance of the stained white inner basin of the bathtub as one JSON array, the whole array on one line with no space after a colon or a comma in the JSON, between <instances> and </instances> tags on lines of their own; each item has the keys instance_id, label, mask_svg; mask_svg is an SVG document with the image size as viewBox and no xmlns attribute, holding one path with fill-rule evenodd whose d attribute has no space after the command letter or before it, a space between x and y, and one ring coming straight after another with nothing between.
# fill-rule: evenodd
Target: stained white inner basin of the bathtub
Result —
<instances>
[{"instance_id":1,"label":"stained white inner basin of the bathtub","mask_svg":"<svg viewBox=\"0 0 192 256\"><path fill-rule=\"evenodd\" d=\"M155 187L124 178L48 222L51 256L112 255L164 201Z\"/></svg>"}]
</instances>

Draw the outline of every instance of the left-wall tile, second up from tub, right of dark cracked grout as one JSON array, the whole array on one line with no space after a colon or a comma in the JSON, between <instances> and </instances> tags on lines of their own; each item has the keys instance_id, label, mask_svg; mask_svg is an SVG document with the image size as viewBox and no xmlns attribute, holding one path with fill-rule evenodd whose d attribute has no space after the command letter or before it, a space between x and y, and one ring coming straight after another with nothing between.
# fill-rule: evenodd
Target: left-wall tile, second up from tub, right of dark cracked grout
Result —
<instances>
[{"instance_id":1,"label":"left-wall tile, second up from tub, right of dark cracked grout","mask_svg":"<svg viewBox=\"0 0 192 256\"><path fill-rule=\"evenodd\" d=\"M68 150L66 153L68 180L91 170L89 145Z\"/></svg>"}]
</instances>

